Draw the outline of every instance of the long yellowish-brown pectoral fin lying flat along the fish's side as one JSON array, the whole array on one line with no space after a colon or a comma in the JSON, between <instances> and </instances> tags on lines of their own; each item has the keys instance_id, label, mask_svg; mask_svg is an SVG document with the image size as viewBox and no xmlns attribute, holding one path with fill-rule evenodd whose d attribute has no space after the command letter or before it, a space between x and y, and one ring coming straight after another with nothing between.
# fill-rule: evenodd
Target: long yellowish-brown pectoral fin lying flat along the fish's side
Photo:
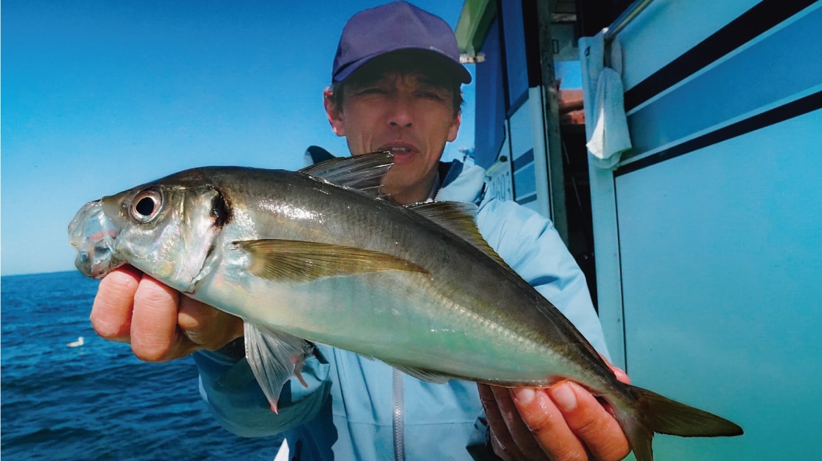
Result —
<instances>
[{"instance_id":1,"label":"long yellowish-brown pectoral fin lying flat along the fish's side","mask_svg":"<svg viewBox=\"0 0 822 461\"><path fill-rule=\"evenodd\" d=\"M409 260L379 251L298 240L234 242L247 252L248 271L262 279L310 282L324 277L406 270L428 274Z\"/></svg>"}]
</instances>

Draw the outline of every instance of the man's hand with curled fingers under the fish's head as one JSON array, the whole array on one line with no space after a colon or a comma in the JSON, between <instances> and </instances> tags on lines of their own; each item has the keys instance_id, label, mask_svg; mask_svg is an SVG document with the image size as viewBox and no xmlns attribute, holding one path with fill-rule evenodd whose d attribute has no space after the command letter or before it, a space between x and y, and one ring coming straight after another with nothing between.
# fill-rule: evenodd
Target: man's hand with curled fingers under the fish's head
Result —
<instances>
[{"instance_id":1,"label":"man's hand with curled fingers under the fish's head","mask_svg":"<svg viewBox=\"0 0 822 461\"><path fill-rule=\"evenodd\" d=\"M104 339L131 343L137 358L167 362L218 349L242 336L242 320L184 296L131 266L100 280L91 325Z\"/></svg>"}]
</instances>

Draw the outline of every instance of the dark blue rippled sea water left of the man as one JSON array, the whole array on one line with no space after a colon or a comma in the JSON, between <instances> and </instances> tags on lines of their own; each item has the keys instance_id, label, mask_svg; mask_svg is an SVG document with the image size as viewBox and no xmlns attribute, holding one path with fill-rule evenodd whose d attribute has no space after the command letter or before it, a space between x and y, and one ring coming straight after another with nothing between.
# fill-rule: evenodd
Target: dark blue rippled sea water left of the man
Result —
<instances>
[{"instance_id":1,"label":"dark blue rippled sea water left of the man","mask_svg":"<svg viewBox=\"0 0 822 461\"><path fill-rule=\"evenodd\" d=\"M3 459L274 459L279 440L215 422L191 358L145 363L99 338L89 322L94 280L60 272L0 284ZM67 346L79 336L82 346Z\"/></svg>"}]
</instances>

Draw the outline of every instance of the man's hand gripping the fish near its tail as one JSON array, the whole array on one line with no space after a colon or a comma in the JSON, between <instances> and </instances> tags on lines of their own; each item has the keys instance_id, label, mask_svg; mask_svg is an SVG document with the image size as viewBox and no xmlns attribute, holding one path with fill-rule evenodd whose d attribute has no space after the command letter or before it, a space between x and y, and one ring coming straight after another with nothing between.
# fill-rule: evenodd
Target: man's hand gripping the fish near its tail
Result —
<instances>
[{"instance_id":1,"label":"man's hand gripping the fish near its tail","mask_svg":"<svg viewBox=\"0 0 822 461\"><path fill-rule=\"evenodd\" d=\"M624 371L611 369L630 383ZM575 382L545 389L479 385L479 395L494 452L502 459L617 461L630 453L612 413Z\"/></svg>"}]
</instances>

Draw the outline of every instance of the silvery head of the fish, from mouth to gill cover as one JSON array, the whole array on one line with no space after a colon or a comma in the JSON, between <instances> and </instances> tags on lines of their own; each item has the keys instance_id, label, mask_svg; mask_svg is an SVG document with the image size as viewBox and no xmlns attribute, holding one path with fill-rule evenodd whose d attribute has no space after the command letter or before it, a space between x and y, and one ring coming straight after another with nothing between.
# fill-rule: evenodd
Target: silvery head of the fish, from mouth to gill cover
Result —
<instances>
[{"instance_id":1,"label":"silvery head of the fish, from mouth to gill cover","mask_svg":"<svg viewBox=\"0 0 822 461\"><path fill-rule=\"evenodd\" d=\"M85 204L68 226L69 242L77 269L88 277L102 279L131 264L191 293L229 218L216 187L160 180Z\"/></svg>"}]
</instances>

